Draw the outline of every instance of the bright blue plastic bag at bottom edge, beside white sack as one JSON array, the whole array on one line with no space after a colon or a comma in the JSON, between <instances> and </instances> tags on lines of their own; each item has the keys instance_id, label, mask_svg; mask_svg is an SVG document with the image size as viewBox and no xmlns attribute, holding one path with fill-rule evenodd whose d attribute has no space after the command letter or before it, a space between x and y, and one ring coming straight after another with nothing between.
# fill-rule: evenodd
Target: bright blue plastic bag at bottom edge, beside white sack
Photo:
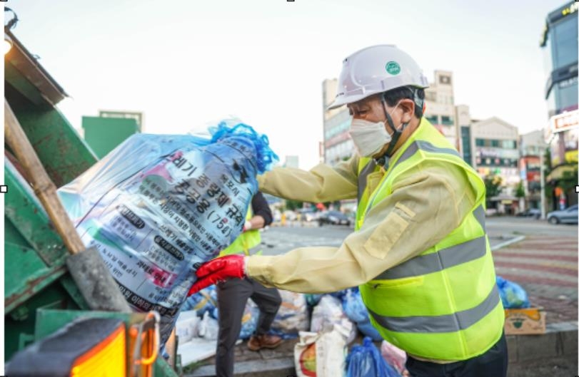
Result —
<instances>
[{"instance_id":1,"label":"bright blue plastic bag at bottom edge, beside white sack","mask_svg":"<svg viewBox=\"0 0 579 377\"><path fill-rule=\"evenodd\" d=\"M346 358L346 377L401 377L382 358L372 339L366 336L363 344L353 346Z\"/></svg>"}]
</instances>

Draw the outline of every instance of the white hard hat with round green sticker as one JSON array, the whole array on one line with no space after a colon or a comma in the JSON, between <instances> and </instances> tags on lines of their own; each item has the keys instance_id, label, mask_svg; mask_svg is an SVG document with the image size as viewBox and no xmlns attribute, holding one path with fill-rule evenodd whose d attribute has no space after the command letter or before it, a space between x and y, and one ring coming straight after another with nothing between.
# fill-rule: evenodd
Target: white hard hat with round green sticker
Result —
<instances>
[{"instance_id":1,"label":"white hard hat with round green sticker","mask_svg":"<svg viewBox=\"0 0 579 377\"><path fill-rule=\"evenodd\" d=\"M366 47L344 59L338 94L328 110L401 86L428 88L416 61L394 45Z\"/></svg>"}]
</instances>

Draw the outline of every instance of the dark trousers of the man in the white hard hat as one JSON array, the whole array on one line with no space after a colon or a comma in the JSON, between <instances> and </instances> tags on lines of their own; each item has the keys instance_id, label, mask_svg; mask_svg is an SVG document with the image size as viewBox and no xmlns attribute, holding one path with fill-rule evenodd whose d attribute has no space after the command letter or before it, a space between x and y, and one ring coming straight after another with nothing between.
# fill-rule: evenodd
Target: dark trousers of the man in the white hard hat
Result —
<instances>
[{"instance_id":1,"label":"dark trousers of the man in the white hard hat","mask_svg":"<svg viewBox=\"0 0 579 377\"><path fill-rule=\"evenodd\" d=\"M438 364L408 356L406 369L412 377L506 377L507 341L505 334L480 356L455 363Z\"/></svg>"}]
</instances>

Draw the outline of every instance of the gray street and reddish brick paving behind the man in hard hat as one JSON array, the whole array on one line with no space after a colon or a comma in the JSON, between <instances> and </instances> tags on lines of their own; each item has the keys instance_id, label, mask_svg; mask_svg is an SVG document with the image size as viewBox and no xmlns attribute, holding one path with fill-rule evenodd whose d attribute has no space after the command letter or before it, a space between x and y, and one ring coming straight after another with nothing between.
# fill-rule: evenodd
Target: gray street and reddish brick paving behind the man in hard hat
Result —
<instances>
[{"instance_id":1,"label":"gray street and reddish brick paving behind the man in hard hat","mask_svg":"<svg viewBox=\"0 0 579 377\"><path fill-rule=\"evenodd\" d=\"M263 254L296 247L339 246L353 229L299 223L263 232ZM488 217L486 227L497 274L517 282L533 306L543 306L548 323L577 321L578 226L523 217ZM516 241L524 236L518 242Z\"/></svg>"}]
</instances>

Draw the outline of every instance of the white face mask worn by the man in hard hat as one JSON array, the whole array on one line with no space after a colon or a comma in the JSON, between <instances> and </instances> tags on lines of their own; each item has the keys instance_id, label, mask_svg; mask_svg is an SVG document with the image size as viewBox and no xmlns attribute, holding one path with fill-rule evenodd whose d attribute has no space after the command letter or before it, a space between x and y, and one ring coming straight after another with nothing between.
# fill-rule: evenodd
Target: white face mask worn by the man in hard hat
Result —
<instances>
[{"instance_id":1,"label":"white face mask worn by the man in hard hat","mask_svg":"<svg viewBox=\"0 0 579 377\"><path fill-rule=\"evenodd\" d=\"M348 132L358 155L372 157L380 152L385 144L390 143L391 136L386 132L384 122L368 122L363 119L353 119Z\"/></svg>"}]
</instances>

